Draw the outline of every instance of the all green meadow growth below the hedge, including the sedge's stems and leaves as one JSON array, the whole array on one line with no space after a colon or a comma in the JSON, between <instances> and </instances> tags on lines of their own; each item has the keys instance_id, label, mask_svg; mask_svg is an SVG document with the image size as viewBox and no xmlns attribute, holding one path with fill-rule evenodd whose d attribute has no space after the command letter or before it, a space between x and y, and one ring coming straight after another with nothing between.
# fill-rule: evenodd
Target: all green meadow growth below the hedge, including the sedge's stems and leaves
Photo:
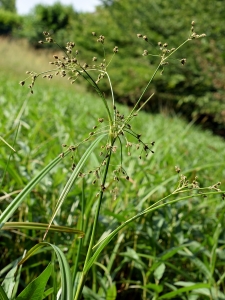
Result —
<instances>
[{"instance_id":1,"label":"all green meadow growth below the hedge, including the sedge's stems and leaves","mask_svg":"<svg viewBox=\"0 0 225 300\"><path fill-rule=\"evenodd\" d=\"M57 299L60 287L62 299L79 299L84 284L84 299L225 299L224 141L176 116L133 118L138 107L106 100L91 66L69 61L72 46L67 59L54 54L53 68L76 69L100 97L41 81L39 70L27 75L27 95L29 80L10 62L1 69L2 299ZM30 55L20 51L18 68ZM97 75L108 61L99 58ZM51 221L43 242L37 226Z\"/></svg>"}]
</instances>

